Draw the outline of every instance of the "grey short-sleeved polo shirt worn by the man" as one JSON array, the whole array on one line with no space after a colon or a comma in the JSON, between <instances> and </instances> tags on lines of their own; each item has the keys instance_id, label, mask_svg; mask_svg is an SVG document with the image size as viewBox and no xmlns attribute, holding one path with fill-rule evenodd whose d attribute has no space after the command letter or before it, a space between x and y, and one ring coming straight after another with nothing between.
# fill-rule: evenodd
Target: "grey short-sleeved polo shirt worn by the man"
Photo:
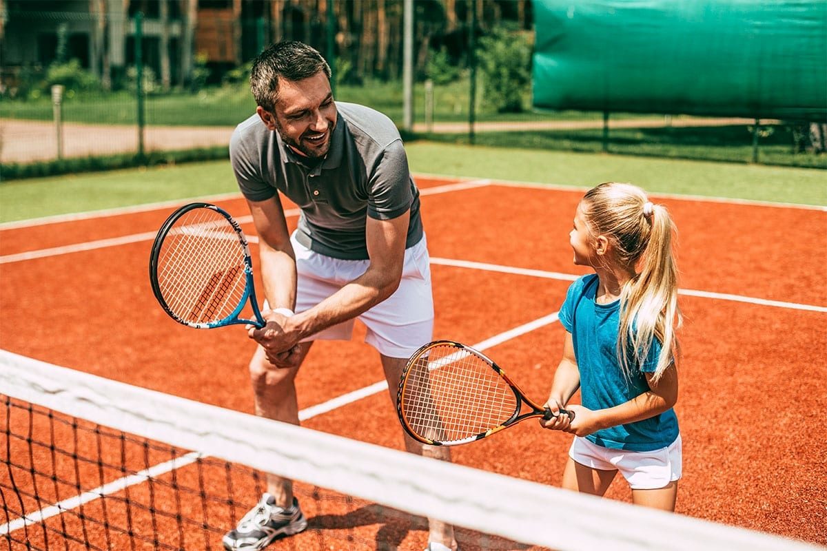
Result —
<instances>
[{"instance_id":1,"label":"grey short-sleeved polo shirt worn by the man","mask_svg":"<svg viewBox=\"0 0 827 551\"><path fill-rule=\"evenodd\" d=\"M337 259L368 258L366 217L390 220L410 209L405 248L422 239L419 191L393 121L354 103L336 102L338 119L323 163L309 168L258 115L236 127L230 159L251 201L276 190L301 208L299 243Z\"/></svg>"}]
</instances>

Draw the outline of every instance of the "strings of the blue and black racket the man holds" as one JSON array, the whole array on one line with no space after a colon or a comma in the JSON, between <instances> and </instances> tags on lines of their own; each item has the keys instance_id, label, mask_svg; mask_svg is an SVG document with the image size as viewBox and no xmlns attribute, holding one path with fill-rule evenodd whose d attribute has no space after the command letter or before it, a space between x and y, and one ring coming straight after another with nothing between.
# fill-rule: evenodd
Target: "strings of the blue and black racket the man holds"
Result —
<instances>
[{"instance_id":1,"label":"strings of the blue and black racket the man holds","mask_svg":"<svg viewBox=\"0 0 827 551\"><path fill-rule=\"evenodd\" d=\"M246 251L216 211L198 208L175 221L158 259L158 283L170 311L194 323L230 316L246 288Z\"/></svg>"}]
</instances>

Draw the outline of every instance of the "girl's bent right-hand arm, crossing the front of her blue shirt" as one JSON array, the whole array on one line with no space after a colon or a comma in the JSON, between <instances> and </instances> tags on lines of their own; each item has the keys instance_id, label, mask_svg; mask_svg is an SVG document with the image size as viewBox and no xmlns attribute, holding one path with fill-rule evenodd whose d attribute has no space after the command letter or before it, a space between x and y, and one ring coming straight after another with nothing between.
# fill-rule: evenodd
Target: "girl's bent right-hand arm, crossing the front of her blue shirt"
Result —
<instances>
[{"instance_id":1,"label":"girl's bent right-hand arm, crossing the front of her blue shirt","mask_svg":"<svg viewBox=\"0 0 827 551\"><path fill-rule=\"evenodd\" d=\"M645 373L649 390L637 397L605 410L587 410L571 406L576 412L575 420L566 432L586 436L610 426L624 425L648 419L669 410L677 401L677 369L675 364L663 372L661 378L653 380L653 373Z\"/></svg>"}]
</instances>

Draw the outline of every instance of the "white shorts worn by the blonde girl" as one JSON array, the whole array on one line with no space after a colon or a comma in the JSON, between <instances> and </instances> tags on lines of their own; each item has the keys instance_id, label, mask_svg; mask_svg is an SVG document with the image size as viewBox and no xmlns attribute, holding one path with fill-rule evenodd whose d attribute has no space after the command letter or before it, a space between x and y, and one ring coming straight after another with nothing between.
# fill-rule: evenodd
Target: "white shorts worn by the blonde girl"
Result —
<instances>
[{"instance_id":1,"label":"white shorts worn by the blonde girl","mask_svg":"<svg viewBox=\"0 0 827 551\"><path fill-rule=\"evenodd\" d=\"M575 436L569 457L586 467L619 471L635 490L654 490L681 478L681 435L666 448L651 452L604 448Z\"/></svg>"}]
</instances>

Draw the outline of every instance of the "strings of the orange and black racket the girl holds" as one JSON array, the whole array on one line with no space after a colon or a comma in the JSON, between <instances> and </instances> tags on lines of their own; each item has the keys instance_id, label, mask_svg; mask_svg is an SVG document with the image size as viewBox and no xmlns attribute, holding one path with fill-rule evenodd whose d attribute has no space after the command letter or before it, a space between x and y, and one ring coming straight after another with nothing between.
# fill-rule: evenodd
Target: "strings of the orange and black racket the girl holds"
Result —
<instances>
[{"instance_id":1,"label":"strings of the orange and black racket the girl holds","mask_svg":"<svg viewBox=\"0 0 827 551\"><path fill-rule=\"evenodd\" d=\"M514 391L485 359L447 344L411 365L401 403L416 434L442 442L484 434L519 408Z\"/></svg>"}]
</instances>

